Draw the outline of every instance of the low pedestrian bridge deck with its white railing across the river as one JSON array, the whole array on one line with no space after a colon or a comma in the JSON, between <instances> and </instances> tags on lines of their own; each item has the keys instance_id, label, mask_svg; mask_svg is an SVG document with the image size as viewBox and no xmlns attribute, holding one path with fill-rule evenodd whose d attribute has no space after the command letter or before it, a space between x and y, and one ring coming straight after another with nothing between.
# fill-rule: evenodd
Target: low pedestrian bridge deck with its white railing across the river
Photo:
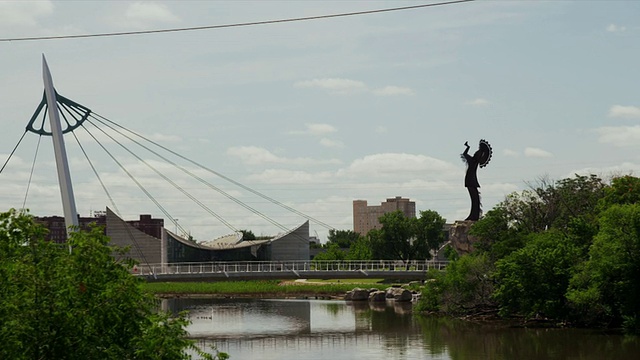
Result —
<instances>
[{"instance_id":1,"label":"low pedestrian bridge deck with its white railing across the river","mask_svg":"<svg viewBox=\"0 0 640 360\"><path fill-rule=\"evenodd\" d=\"M235 281L287 279L415 279L443 270L446 261L240 261L141 264L134 274L147 281Z\"/></svg>"}]
</instances>

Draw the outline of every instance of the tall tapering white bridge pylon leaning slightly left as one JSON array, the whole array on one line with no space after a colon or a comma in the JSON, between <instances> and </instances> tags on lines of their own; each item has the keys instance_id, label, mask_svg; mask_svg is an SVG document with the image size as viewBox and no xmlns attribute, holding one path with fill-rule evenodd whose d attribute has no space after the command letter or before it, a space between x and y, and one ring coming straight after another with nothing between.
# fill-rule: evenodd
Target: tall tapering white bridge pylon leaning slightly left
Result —
<instances>
[{"instance_id":1,"label":"tall tapering white bridge pylon leaning slightly left","mask_svg":"<svg viewBox=\"0 0 640 360\"><path fill-rule=\"evenodd\" d=\"M72 229L78 227L78 212L76 211L76 201L73 196L73 186L71 184L71 174L69 172L69 161L67 150L62 136L62 126L60 125L60 114L56 101L56 90L53 87L51 72L47 65L47 60L42 54L42 78L44 80L44 92L47 99L47 110L49 123L51 126L51 137L53 138L53 151L56 157L56 168L58 170L58 183L60 184L60 195L62 196L62 209L64 212L64 222L67 228L67 237Z\"/></svg>"}]
</instances>

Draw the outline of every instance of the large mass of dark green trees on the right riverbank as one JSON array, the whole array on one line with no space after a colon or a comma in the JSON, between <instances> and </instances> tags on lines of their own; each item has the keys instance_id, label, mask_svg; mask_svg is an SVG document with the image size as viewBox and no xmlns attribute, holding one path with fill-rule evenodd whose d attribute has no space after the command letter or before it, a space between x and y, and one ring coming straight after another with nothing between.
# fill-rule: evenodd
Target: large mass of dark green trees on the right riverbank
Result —
<instances>
[{"instance_id":1,"label":"large mass of dark green trees on the right riverbank","mask_svg":"<svg viewBox=\"0 0 640 360\"><path fill-rule=\"evenodd\" d=\"M475 223L423 310L640 331L640 179L541 180Z\"/></svg>"}]
</instances>

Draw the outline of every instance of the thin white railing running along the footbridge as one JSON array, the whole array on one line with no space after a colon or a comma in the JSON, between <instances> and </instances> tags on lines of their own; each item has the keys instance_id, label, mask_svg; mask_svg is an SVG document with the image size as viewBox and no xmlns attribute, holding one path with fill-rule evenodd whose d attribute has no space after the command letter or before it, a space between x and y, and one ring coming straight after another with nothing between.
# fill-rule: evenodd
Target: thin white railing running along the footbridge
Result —
<instances>
[{"instance_id":1,"label":"thin white railing running along the footbridge","mask_svg":"<svg viewBox=\"0 0 640 360\"><path fill-rule=\"evenodd\" d=\"M167 264L144 264L134 268L134 273L150 274L212 274L212 273L252 273L252 272L282 272L298 273L309 271L341 271L341 272L375 272L375 271L404 271L424 272L429 269L442 270L446 261L414 260L409 262L390 260L368 261L214 261L189 262Z\"/></svg>"}]
</instances>

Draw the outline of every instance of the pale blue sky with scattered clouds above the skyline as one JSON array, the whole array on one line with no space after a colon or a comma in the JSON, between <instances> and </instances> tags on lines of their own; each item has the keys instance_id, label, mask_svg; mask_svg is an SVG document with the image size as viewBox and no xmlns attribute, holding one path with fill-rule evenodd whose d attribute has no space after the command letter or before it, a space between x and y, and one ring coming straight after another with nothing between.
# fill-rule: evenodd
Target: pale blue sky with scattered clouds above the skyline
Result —
<instances>
[{"instance_id":1,"label":"pale blue sky with scattered clouds above the skyline","mask_svg":"<svg viewBox=\"0 0 640 360\"><path fill-rule=\"evenodd\" d=\"M192 163L180 166L210 185L98 137L158 207L77 129L111 202L65 136L81 216L115 204L127 220L151 214L198 240L233 229L274 235L302 224L300 214L351 230L356 199L379 205L402 196L418 211L462 220L470 209L460 159L466 141L472 152L480 139L493 147L478 170L485 212L541 179L639 175L636 1L477 0L19 40L435 3L0 1L0 160L42 98L44 54L61 95L298 211ZM62 215L55 171L51 137L27 133L0 173L2 211L24 205L36 216ZM327 232L311 222L311 235L325 241Z\"/></svg>"}]
</instances>

